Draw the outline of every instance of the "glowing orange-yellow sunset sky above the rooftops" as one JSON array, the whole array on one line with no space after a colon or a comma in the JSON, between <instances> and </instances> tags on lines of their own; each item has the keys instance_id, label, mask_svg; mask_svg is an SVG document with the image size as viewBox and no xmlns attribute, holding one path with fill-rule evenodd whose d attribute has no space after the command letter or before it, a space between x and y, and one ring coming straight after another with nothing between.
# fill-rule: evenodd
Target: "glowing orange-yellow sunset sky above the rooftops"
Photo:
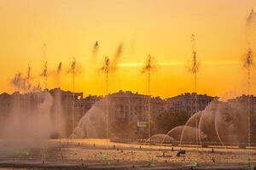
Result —
<instances>
[{"instance_id":1,"label":"glowing orange-yellow sunset sky above the rooftops","mask_svg":"<svg viewBox=\"0 0 256 170\"><path fill-rule=\"evenodd\" d=\"M74 57L79 66L75 91L105 94L105 77L99 70L104 57L113 59L121 43L118 68L109 75L110 93L123 89L147 94L142 69L148 54L156 65L152 95L166 98L192 92L194 78L188 65L195 34L198 92L222 99L241 95L247 91L247 71L242 68L247 39L256 51L246 25L252 8L255 0L0 0L0 92L14 92L10 82L15 73L26 74L27 65L32 66L32 83L40 82L44 88L44 78L39 77L44 43L48 88L60 84L73 89L67 70ZM96 41L99 51L93 55ZM57 78L59 62L63 70ZM255 85L254 65L252 94Z\"/></svg>"}]
</instances>

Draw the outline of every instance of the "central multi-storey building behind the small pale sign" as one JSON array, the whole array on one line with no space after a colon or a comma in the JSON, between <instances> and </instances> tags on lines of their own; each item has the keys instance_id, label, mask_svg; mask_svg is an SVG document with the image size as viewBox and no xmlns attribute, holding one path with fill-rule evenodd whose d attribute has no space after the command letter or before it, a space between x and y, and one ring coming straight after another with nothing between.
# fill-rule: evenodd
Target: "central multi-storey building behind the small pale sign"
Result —
<instances>
[{"instance_id":1,"label":"central multi-storey building behind the small pale sign","mask_svg":"<svg viewBox=\"0 0 256 170\"><path fill-rule=\"evenodd\" d=\"M148 95L131 93L131 91L122 91L108 95L109 122L112 125L119 125L119 128L113 127L113 133L124 137L136 137L148 135ZM160 97L150 98L150 116L151 120L164 111L163 99ZM138 126L140 122L146 127Z\"/></svg>"}]
</instances>

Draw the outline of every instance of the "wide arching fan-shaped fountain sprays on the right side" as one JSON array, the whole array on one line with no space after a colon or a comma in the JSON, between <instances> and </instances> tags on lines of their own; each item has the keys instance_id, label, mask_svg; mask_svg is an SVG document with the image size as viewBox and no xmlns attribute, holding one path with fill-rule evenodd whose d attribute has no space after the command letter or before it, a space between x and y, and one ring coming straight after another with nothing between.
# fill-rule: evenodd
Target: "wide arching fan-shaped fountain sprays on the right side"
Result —
<instances>
[{"instance_id":1,"label":"wide arching fan-shaped fountain sprays on the right side","mask_svg":"<svg viewBox=\"0 0 256 170\"><path fill-rule=\"evenodd\" d=\"M212 101L204 111L199 111L191 116L183 126L172 128L161 143L171 137L179 144L197 144L197 138L201 145L222 144L244 146L247 142L247 105L244 102ZM198 122L198 126L197 123ZM157 136L157 135L154 135ZM160 135L161 137L163 135Z\"/></svg>"}]
</instances>

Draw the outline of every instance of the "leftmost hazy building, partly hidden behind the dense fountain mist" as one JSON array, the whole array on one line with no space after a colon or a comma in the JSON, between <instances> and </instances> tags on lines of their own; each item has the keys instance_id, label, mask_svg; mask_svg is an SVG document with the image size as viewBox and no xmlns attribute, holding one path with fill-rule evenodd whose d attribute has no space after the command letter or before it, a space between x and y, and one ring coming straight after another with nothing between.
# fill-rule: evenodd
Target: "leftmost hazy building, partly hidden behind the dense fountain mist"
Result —
<instances>
[{"instance_id":1,"label":"leftmost hazy building, partly hidden behind the dense fountain mist","mask_svg":"<svg viewBox=\"0 0 256 170\"><path fill-rule=\"evenodd\" d=\"M1 129L9 121L11 114L23 114L30 116L36 114L34 111L44 102L44 94L49 92L52 96L52 105L50 111L52 113L63 116L65 123L65 132L63 137L68 137L73 133L73 126L76 127L80 118L90 110L90 107L102 96L87 96L83 98L83 93L72 93L63 91L60 88L33 92L27 94L0 94L0 136ZM51 114L51 115L55 115ZM55 118L55 117L52 117ZM58 118L58 117L57 117ZM54 134L60 136L60 134Z\"/></svg>"}]
</instances>

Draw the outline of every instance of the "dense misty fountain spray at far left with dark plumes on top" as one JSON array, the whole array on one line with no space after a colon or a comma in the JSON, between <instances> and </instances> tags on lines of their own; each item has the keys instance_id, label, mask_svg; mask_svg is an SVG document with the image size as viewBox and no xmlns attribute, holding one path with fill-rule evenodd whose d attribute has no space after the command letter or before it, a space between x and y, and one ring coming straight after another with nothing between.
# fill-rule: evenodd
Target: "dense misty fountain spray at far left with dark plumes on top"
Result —
<instances>
[{"instance_id":1,"label":"dense misty fountain spray at far left with dark plumes on top","mask_svg":"<svg viewBox=\"0 0 256 170\"><path fill-rule=\"evenodd\" d=\"M44 63L41 76L46 77L45 88L47 88L47 62ZM15 74L11 85L18 92L10 95L11 109L6 120L8 123L1 133L3 139L1 142L6 148L4 153L15 155L23 152L22 150L30 152L32 149L41 149L44 161L48 147L47 139L65 137L60 91L50 94L48 90L41 91L39 85L32 88L30 65L26 76L21 72ZM3 150L2 146L0 149Z\"/></svg>"}]
</instances>

